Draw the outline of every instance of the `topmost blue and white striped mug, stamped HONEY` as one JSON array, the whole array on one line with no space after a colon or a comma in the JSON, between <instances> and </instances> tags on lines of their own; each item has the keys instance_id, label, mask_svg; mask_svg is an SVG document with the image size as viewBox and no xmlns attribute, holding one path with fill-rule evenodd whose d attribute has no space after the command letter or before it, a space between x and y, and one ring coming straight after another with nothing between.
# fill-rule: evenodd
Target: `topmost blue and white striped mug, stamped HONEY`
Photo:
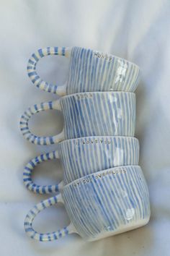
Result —
<instances>
[{"instance_id":1,"label":"topmost blue and white striped mug, stamped HONEY","mask_svg":"<svg viewBox=\"0 0 170 256\"><path fill-rule=\"evenodd\" d=\"M52 85L37 74L37 61L49 55L60 55L69 59L70 67L65 85ZM67 95L111 90L134 92L138 86L140 69L130 61L91 49L47 47L32 54L27 72L37 88L58 95Z\"/></svg>"}]
</instances>

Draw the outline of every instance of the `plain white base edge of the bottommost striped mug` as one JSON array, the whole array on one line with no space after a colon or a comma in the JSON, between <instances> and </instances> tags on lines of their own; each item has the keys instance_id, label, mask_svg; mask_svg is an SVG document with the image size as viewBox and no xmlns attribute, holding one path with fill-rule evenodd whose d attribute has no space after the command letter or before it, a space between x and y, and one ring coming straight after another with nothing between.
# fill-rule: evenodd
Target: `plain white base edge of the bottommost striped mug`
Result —
<instances>
[{"instance_id":1,"label":"plain white base edge of the bottommost striped mug","mask_svg":"<svg viewBox=\"0 0 170 256\"><path fill-rule=\"evenodd\" d=\"M88 239L88 241L89 242L94 242L94 241L97 241L99 239L103 239L103 238L108 237L108 236L115 236L117 234L125 233L125 232L133 230L133 229L138 229L141 226L145 226L148 223L149 219L150 219L150 217L145 218L145 219L140 220L140 221L135 221L134 223L129 223L129 224L126 224L126 225L122 225L121 227L119 227L118 230L115 230L115 231L103 231L103 232L99 233L99 235L97 235L95 238Z\"/></svg>"}]
</instances>

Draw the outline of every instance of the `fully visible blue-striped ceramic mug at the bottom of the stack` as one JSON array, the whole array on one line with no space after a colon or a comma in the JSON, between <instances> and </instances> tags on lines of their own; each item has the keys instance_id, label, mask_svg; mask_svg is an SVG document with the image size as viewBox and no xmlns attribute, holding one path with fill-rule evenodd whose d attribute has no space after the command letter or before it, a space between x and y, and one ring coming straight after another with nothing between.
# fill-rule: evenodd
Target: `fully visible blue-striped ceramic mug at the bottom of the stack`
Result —
<instances>
[{"instance_id":1,"label":"fully visible blue-striped ceramic mug at the bottom of the stack","mask_svg":"<svg viewBox=\"0 0 170 256\"><path fill-rule=\"evenodd\" d=\"M35 231L35 216L58 202L65 205L70 225L52 233ZM24 230L42 242L71 233L94 241L146 225L149 218L148 187L140 166L121 166L77 179L61 194L38 203L27 213Z\"/></svg>"}]
</instances>

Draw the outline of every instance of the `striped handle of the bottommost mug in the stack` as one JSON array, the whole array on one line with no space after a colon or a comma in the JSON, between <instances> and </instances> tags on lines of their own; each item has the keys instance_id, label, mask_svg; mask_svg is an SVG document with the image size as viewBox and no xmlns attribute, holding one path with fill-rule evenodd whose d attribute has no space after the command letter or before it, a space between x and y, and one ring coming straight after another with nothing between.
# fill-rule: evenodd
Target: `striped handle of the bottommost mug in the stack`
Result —
<instances>
[{"instance_id":1,"label":"striped handle of the bottommost mug in the stack","mask_svg":"<svg viewBox=\"0 0 170 256\"><path fill-rule=\"evenodd\" d=\"M58 229L58 231L49 232L49 233L38 233L35 231L35 229L32 228L32 223L37 216L38 213L40 213L42 210L49 208L52 205L57 204L58 202L63 202L63 197L61 194L55 195L54 197L50 197L46 200L43 200L42 202L39 202L35 207L33 207L29 213L27 213L27 216L24 220L24 231L28 236L30 236L32 239L41 241L41 242L48 242L53 241L58 238L61 238L63 236L66 236L68 234L77 233L75 227L72 223L70 223L68 226L64 227L63 229Z\"/></svg>"}]
</instances>

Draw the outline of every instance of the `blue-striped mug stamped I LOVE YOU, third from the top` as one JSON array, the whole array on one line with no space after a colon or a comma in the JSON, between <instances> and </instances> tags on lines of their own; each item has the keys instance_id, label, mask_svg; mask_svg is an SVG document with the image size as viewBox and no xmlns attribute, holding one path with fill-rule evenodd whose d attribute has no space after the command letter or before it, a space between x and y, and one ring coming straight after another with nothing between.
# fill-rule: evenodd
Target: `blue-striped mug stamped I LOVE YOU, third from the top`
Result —
<instances>
[{"instance_id":1,"label":"blue-striped mug stamped I LOVE YOU, third from the top","mask_svg":"<svg viewBox=\"0 0 170 256\"><path fill-rule=\"evenodd\" d=\"M43 161L60 158L63 184L115 166L138 165L139 142L135 137L83 137L64 140L58 150L33 158L24 168L24 185L37 194L60 191L62 183L40 186L32 182L32 171Z\"/></svg>"}]
</instances>

